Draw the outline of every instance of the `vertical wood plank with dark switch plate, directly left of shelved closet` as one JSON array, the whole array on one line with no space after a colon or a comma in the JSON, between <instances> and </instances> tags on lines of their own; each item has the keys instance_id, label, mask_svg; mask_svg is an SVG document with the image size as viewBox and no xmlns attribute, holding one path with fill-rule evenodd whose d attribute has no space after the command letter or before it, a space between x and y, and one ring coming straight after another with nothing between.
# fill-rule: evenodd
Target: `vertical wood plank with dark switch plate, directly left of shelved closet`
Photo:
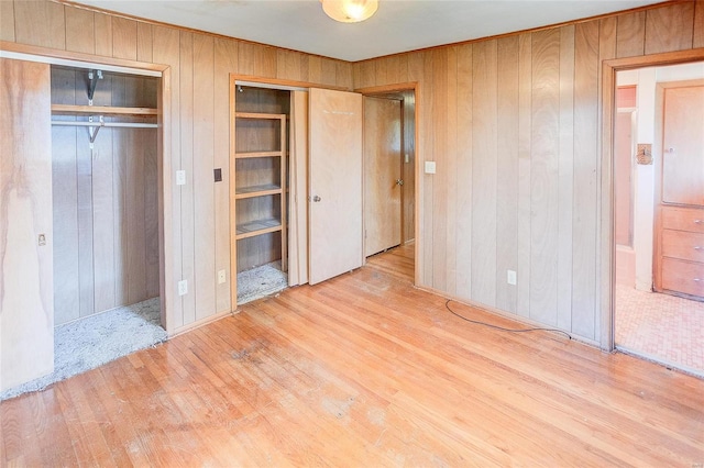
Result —
<instances>
[{"instance_id":1,"label":"vertical wood plank with dark switch plate, directly left of shelved closet","mask_svg":"<svg viewBox=\"0 0 704 468\"><path fill-rule=\"evenodd\" d=\"M230 73L238 69L238 47L233 41L215 40L213 125L215 125L215 167L222 169L222 182L215 186L216 210L216 270L226 270L226 282L217 286L217 312L231 310L230 304L230 221L217 213L230 212ZM224 90L224 91L223 91ZM235 272L234 272L235 274Z\"/></svg>"}]
</instances>

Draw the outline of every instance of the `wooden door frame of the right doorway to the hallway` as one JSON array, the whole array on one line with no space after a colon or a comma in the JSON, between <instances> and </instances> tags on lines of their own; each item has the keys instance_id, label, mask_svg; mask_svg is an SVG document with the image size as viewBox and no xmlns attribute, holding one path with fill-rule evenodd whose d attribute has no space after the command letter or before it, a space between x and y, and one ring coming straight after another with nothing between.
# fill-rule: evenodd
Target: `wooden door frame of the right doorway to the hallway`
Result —
<instances>
[{"instance_id":1,"label":"wooden door frame of the right doorway to the hallway","mask_svg":"<svg viewBox=\"0 0 704 468\"><path fill-rule=\"evenodd\" d=\"M616 278L616 243L614 220L614 113L616 111L616 73L646 67L682 65L704 60L704 48L669 52L647 56L614 58L602 63L601 108L601 180L598 186L597 271L596 293L600 301L600 346L615 349L614 288Z\"/></svg>"}]
</instances>

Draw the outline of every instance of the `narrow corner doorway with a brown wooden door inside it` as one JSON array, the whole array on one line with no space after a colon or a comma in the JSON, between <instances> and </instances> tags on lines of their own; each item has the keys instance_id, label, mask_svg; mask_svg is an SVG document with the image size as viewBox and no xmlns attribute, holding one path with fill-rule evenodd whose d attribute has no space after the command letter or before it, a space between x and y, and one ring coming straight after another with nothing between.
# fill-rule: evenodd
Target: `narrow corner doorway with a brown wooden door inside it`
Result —
<instances>
[{"instance_id":1,"label":"narrow corner doorway with a brown wooden door inside it","mask_svg":"<svg viewBox=\"0 0 704 468\"><path fill-rule=\"evenodd\" d=\"M416 94L413 89L364 98L364 256L398 248L411 270L416 238ZM409 254L410 253L410 254ZM411 275L413 280L413 275Z\"/></svg>"}]
</instances>

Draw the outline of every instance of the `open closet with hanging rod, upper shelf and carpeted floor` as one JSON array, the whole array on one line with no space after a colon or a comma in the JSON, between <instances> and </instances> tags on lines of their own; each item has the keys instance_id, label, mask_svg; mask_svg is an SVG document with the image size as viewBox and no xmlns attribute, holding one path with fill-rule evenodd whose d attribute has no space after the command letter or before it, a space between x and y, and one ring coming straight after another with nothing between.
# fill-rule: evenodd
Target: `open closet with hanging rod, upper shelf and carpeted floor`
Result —
<instances>
[{"instance_id":1,"label":"open closet with hanging rod, upper shelf and carpeted floor","mask_svg":"<svg viewBox=\"0 0 704 468\"><path fill-rule=\"evenodd\" d=\"M51 66L59 377L167 337L160 278L161 80Z\"/></svg>"}]
</instances>

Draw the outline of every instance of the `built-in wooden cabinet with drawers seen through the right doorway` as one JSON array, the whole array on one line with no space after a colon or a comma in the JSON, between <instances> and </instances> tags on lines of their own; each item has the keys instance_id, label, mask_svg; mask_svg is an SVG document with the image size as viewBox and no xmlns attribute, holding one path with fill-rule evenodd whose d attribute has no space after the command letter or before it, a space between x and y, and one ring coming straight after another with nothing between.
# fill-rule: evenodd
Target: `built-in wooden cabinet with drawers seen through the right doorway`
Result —
<instances>
[{"instance_id":1,"label":"built-in wooden cabinet with drawers seen through the right doorway","mask_svg":"<svg viewBox=\"0 0 704 468\"><path fill-rule=\"evenodd\" d=\"M654 290L704 300L704 83L658 86Z\"/></svg>"}]
</instances>

